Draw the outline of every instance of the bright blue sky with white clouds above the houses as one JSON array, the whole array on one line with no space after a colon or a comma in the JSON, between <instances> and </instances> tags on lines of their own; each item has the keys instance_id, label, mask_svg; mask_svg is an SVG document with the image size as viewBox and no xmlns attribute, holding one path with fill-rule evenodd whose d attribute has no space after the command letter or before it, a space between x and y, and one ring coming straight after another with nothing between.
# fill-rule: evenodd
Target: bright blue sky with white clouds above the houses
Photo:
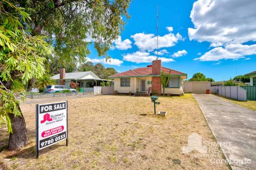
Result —
<instances>
[{"instance_id":1,"label":"bright blue sky with white clouds above the houses","mask_svg":"<svg viewBox=\"0 0 256 170\"><path fill-rule=\"evenodd\" d=\"M130 19L104 62L90 46L89 60L123 72L149 65L156 56L156 9L162 65L215 81L256 70L256 1L134 0ZM154 34L154 35L151 35Z\"/></svg>"}]
</instances>

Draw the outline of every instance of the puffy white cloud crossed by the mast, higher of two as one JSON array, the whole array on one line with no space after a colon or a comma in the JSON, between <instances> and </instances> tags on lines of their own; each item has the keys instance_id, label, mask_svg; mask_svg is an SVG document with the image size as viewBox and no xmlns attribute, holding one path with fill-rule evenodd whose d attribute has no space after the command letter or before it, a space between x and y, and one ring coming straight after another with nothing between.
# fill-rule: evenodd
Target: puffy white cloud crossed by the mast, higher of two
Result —
<instances>
[{"instance_id":1,"label":"puffy white cloud crossed by the mast, higher of two","mask_svg":"<svg viewBox=\"0 0 256 170\"><path fill-rule=\"evenodd\" d=\"M137 33L131 37L141 51L151 52L157 48L157 36L154 34ZM169 33L159 36L159 48L175 46L175 43L179 40L182 40L182 36L179 33L176 35Z\"/></svg>"}]
</instances>

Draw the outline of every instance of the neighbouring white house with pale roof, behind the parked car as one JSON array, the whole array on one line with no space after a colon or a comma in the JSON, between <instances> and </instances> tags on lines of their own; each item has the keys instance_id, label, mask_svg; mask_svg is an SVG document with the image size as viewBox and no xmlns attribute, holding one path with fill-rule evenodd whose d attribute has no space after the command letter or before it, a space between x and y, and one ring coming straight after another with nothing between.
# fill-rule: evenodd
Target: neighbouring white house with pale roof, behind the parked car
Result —
<instances>
[{"instance_id":1,"label":"neighbouring white house with pale roof, behind the parked car","mask_svg":"<svg viewBox=\"0 0 256 170\"><path fill-rule=\"evenodd\" d=\"M58 85L69 86L71 81L74 81L83 91L93 91L94 86L100 86L101 82L109 81L97 77L92 71L66 73L65 68L60 68L59 74L53 75L51 78L56 80Z\"/></svg>"}]
</instances>

